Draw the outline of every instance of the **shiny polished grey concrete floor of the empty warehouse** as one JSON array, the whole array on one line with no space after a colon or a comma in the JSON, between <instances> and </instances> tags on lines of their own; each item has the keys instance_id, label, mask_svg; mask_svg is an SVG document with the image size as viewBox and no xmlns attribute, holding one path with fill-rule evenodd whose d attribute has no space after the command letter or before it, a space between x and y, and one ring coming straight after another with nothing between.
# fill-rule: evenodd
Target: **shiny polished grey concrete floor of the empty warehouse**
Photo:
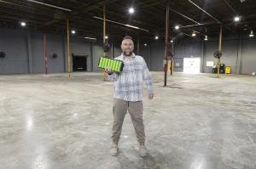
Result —
<instances>
[{"instance_id":1,"label":"shiny polished grey concrete floor of the empty warehouse","mask_svg":"<svg viewBox=\"0 0 256 169\"><path fill-rule=\"evenodd\" d=\"M1 168L256 168L256 77L152 72L144 92L149 155L139 157L127 114L111 145L112 82L100 73L0 76Z\"/></svg>"}]
</instances>

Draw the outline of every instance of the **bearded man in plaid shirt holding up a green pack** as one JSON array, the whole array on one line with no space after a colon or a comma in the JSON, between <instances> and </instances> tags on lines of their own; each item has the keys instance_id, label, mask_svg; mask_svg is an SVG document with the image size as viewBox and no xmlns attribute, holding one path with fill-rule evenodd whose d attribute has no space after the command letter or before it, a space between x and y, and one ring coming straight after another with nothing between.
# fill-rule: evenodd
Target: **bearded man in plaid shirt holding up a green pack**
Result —
<instances>
[{"instance_id":1,"label":"bearded man in plaid shirt holding up a green pack","mask_svg":"<svg viewBox=\"0 0 256 169\"><path fill-rule=\"evenodd\" d=\"M134 44L131 37L126 36L121 44L122 54L115 58L124 62L122 72L115 73L110 69L108 79L114 82L113 88L113 146L110 155L118 155L118 143L125 114L128 110L135 127L137 141L140 144L139 155L147 155L145 132L143 125L143 81L148 87L148 99L153 99L153 87L147 64L143 57L133 53Z\"/></svg>"}]
</instances>

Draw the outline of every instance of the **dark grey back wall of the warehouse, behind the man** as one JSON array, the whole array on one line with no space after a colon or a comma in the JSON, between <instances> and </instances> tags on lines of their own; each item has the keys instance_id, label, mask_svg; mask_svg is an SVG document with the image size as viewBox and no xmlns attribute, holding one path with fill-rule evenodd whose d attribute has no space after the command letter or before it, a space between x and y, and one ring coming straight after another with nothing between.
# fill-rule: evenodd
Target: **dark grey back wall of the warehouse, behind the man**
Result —
<instances>
[{"instance_id":1,"label":"dark grey back wall of the warehouse, behind the man","mask_svg":"<svg viewBox=\"0 0 256 169\"><path fill-rule=\"evenodd\" d=\"M46 35L48 71L49 73L67 72L67 40L66 35ZM71 36L72 54L87 56L87 70L99 71L97 63L102 56L102 42L90 42ZM120 41L112 43L109 57L121 54ZM201 58L201 72L211 73L212 67L207 61L217 65L213 53L218 50L218 37L204 42L199 38L179 37L174 43L174 70L183 71L183 58ZM135 42L135 48L137 48ZM44 73L44 33L39 31L14 30L0 28L0 52L6 57L0 58L0 74ZM135 50L136 53L137 50ZM57 58L53 58L57 54ZM145 59L149 70L162 71L165 59L165 42L148 42L148 46L140 44L139 55ZM249 37L224 37L223 57L221 62L232 67L232 73L251 74L256 71L256 39Z\"/></svg>"}]
</instances>

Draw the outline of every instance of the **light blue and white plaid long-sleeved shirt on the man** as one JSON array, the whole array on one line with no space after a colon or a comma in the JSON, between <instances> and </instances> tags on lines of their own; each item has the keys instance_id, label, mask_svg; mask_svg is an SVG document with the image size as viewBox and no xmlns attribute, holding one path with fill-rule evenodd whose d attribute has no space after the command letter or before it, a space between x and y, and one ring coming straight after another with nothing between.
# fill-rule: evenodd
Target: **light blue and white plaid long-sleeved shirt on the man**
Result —
<instances>
[{"instance_id":1,"label":"light blue and white plaid long-sleeved shirt on the man","mask_svg":"<svg viewBox=\"0 0 256 169\"><path fill-rule=\"evenodd\" d=\"M120 73L108 75L114 82L113 98L125 101L141 101L143 99L143 81L146 82L148 93L153 93L153 86L148 66L143 57L132 54L131 59L120 55L115 58L124 62L124 69Z\"/></svg>"}]
</instances>

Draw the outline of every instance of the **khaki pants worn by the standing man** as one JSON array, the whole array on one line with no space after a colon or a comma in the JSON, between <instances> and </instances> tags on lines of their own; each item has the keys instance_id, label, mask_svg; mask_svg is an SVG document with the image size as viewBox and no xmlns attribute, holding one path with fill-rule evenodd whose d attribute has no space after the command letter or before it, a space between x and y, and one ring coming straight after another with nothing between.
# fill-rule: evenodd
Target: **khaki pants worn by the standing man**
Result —
<instances>
[{"instance_id":1,"label":"khaki pants worn by the standing man","mask_svg":"<svg viewBox=\"0 0 256 169\"><path fill-rule=\"evenodd\" d=\"M131 121L137 134L139 144L145 143L145 132L143 125L143 101L128 102L122 99L113 99L113 144L119 143L122 126L127 113L131 115Z\"/></svg>"}]
</instances>

